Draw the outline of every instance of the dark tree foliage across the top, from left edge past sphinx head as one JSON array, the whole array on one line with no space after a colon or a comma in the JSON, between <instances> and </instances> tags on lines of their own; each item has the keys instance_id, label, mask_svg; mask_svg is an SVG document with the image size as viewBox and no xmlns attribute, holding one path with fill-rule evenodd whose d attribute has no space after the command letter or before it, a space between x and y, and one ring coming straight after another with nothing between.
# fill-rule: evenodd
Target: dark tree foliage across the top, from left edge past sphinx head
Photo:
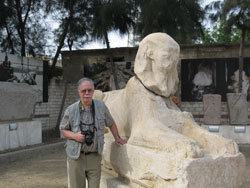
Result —
<instances>
[{"instance_id":1,"label":"dark tree foliage across the top, from left edge past sphinx head","mask_svg":"<svg viewBox=\"0 0 250 188\"><path fill-rule=\"evenodd\" d=\"M109 45L108 33L166 32L181 43L202 36L199 0L3 0L0 2L1 51L43 53L54 39L55 55L67 45L82 48L92 39ZM47 16L50 16L48 22ZM58 25L53 29L53 23ZM91 40L92 40L91 39ZM46 48L47 49L47 48Z\"/></svg>"}]
</instances>

